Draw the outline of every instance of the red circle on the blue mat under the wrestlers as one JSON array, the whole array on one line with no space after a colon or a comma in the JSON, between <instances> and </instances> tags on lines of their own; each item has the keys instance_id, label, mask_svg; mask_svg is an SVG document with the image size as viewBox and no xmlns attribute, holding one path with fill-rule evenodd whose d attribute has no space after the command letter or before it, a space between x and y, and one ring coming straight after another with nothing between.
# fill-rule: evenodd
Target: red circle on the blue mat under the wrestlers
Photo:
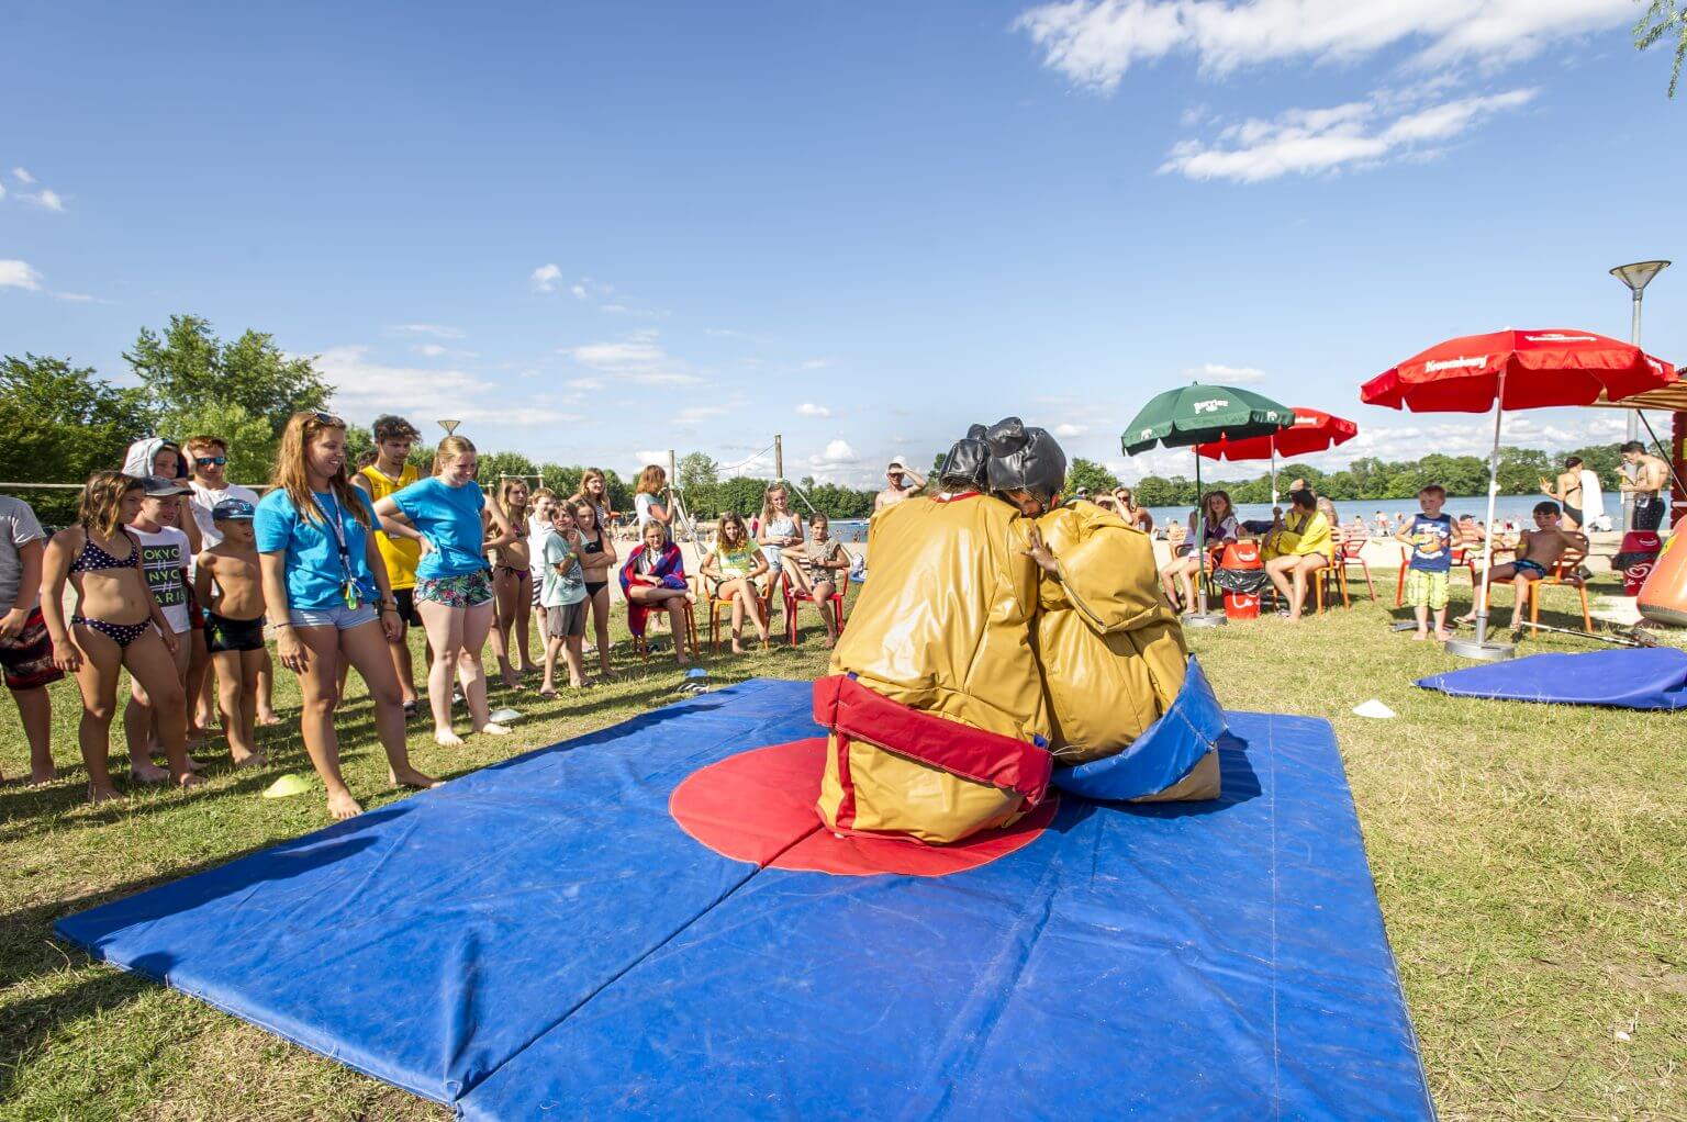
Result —
<instances>
[{"instance_id":1,"label":"red circle on the blue mat under the wrestlers","mask_svg":"<svg viewBox=\"0 0 1687 1122\"><path fill-rule=\"evenodd\" d=\"M1014 825L984 830L953 845L838 837L815 812L825 763L825 737L727 756L685 776L668 798L668 813L680 828L717 854L763 867L941 877L1024 849L1038 840L1059 806L1059 800L1049 795Z\"/></svg>"}]
</instances>

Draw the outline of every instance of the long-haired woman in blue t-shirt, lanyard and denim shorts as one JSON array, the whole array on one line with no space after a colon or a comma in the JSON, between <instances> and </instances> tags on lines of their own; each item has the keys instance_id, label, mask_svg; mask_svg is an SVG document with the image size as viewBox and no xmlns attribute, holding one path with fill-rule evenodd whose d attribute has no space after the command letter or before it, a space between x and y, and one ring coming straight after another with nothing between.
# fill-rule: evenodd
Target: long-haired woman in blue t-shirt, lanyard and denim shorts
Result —
<instances>
[{"instance_id":1,"label":"long-haired woman in blue t-shirt, lanyard and denim shorts","mask_svg":"<svg viewBox=\"0 0 1687 1122\"><path fill-rule=\"evenodd\" d=\"M339 773L339 666L363 675L388 776L405 786L439 786L410 766L405 705L386 645L400 631L398 601L375 543L375 508L346 476L346 422L294 413L275 454L273 489L258 503L253 531L263 574L263 607L275 653L299 675L299 732L327 788L336 818L363 813Z\"/></svg>"}]
</instances>

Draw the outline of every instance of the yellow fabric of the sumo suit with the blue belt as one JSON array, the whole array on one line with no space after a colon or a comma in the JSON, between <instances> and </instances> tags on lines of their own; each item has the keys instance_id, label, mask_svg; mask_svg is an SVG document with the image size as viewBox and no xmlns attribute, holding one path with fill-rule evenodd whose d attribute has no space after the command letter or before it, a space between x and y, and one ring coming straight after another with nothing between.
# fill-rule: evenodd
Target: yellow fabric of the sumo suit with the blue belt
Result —
<instances>
[{"instance_id":1,"label":"yellow fabric of the sumo suit with the blue belt","mask_svg":"<svg viewBox=\"0 0 1687 1122\"><path fill-rule=\"evenodd\" d=\"M1171 709L1189 651L1166 602L1154 542L1091 503L1038 518L1058 577L1043 574L1038 661L1048 688L1059 766L1113 756ZM1208 749L1162 791L1132 801L1218 796L1218 751Z\"/></svg>"}]
</instances>

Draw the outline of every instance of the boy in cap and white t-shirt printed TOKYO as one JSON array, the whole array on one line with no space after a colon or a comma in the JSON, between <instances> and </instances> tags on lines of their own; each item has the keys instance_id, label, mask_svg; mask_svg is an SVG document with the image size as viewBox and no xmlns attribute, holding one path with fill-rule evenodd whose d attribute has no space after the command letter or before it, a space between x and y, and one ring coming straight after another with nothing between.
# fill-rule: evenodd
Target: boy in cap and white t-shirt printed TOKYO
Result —
<instances>
[{"instance_id":1,"label":"boy in cap and white t-shirt printed TOKYO","mask_svg":"<svg viewBox=\"0 0 1687 1122\"><path fill-rule=\"evenodd\" d=\"M128 531L140 543L140 569L147 577L152 597L159 601L165 623L175 633L175 673L187 688L187 660L192 645L186 634L192 628L187 614L187 558L192 548L187 535L177 526L182 516L182 496L189 494L187 484L164 476L143 476L140 481L145 498L140 503L140 515L128 523ZM192 722L189 707L187 739L204 736L204 729ZM170 778L169 769L152 763L152 749L157 746L157 727L152 702L147 692L130 678L128 705L123 709L123 732L128 737L130 771L142 783L162 783ZM197 771L197 766L189 761Z\"/></svg>"}]
</instances>

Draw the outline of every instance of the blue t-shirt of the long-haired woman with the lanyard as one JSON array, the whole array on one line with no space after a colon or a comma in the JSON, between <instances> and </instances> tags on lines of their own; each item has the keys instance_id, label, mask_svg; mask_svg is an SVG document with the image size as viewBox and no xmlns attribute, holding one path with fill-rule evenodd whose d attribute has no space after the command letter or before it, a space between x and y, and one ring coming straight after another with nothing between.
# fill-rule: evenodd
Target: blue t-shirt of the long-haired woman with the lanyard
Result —
<instances>
[{"instance_id":1,"label":"blue t-shirt of the long-haired woman with the lanyard","mask_svg":"<svg viewBox=\"0 0 1687 1122\"><path fill-rule=\"evenodd\" d=\"M353 488L369 525L380 525L369 496ZM332 491L312 493L317 518L300 518L292 498L275 488L258 503L251 520L260 553L285 552L287 606L322 611L346 606L354 594L363 604L380 596L369 572L369 531Z\"/></svg>"}]
</instances>

